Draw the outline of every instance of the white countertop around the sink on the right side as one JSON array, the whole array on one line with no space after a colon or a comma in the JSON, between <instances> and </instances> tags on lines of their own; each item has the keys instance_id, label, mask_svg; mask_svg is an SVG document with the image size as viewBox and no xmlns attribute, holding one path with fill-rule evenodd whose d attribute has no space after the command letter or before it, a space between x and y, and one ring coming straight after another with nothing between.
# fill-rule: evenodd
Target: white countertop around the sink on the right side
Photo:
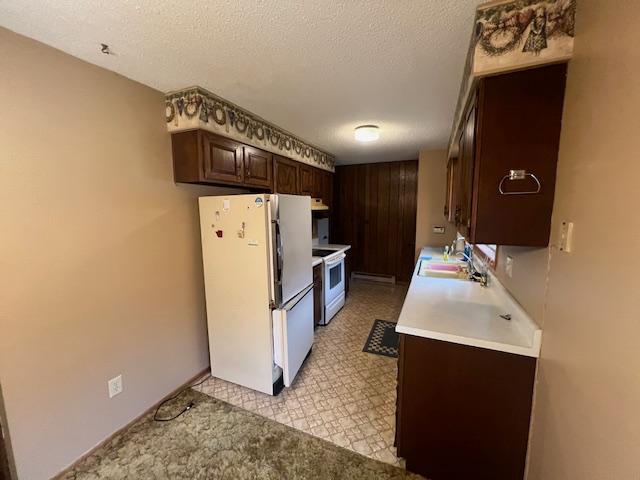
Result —
<instances>
[{"instance_id":1,"label":"white countertop around the sink on the right side","mask_svg":"<svg viewBox=\"0 0 640 480\"><path fill-rule=\"evenodd\" d=\"M420 257L442 261L442 249L425 247ZM457 278L411 278L398 333L538 357L542 331L490 274L489 286ZM511 320L499 315L511 314Z\"/></svg>"}]
</instances>

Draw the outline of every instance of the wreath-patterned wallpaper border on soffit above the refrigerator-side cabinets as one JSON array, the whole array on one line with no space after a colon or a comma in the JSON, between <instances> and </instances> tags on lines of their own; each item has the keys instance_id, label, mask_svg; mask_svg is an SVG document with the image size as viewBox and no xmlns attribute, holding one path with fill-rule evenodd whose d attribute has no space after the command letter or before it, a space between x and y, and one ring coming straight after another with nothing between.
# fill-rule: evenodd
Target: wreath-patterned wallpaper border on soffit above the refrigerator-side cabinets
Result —
<instances>
[{"instance_id":1,"label":"wreath-patterned wallpaper border on soffit above the refrigerator-side cabinets","mask_svg":"<svg viewBox=\"0 0 640 480\"><path fill-rule=\"evenodd\" d=\"M333 155L201 87L168 93L165 115L169 131L203 128L324 170L335 168Z\"/></svg>"}]
</instances>

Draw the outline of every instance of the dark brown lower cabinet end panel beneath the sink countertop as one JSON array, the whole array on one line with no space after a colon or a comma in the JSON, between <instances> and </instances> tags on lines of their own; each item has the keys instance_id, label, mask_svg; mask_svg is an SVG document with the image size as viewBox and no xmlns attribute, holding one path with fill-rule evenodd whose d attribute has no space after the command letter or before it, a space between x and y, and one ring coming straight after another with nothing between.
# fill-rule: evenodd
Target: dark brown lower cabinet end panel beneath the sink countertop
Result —
<instances>
[{"instance_id":1,"label":"dark brown lower cabinet end panel beneath the sink countertop","mask_svg":"<svg viewBox=\"0 0 640 480\"><path fill-rule=\"evenodd\" d=\"M536 359L400 335L396 446L430 480L522 480Z\"/></svg>"}]
</instances>

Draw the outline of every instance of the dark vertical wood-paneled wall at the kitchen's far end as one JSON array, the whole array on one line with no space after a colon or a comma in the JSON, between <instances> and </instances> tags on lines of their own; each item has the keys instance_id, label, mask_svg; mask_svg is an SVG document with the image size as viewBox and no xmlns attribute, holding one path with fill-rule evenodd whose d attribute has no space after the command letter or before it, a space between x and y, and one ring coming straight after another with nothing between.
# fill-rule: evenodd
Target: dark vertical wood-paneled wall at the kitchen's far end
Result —
<instances>
[{"instance_id":1,"label":"dark vertical wood-paneled wall at the kitchen's far end","mask_svg":"<svg viewBox=\"0 0 640 480\"><path fill-rule=\"evenodd\" d=\"M408 281L414 266L418 161L336 167L331 241L350 269Z\"/></svg>"}]
</instances>

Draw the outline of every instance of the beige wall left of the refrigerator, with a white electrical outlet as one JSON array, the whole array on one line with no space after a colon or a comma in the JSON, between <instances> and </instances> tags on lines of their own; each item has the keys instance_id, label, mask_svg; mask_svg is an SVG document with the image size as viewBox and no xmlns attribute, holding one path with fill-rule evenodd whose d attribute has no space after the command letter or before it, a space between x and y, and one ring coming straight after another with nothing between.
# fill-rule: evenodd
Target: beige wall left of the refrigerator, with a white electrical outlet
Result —
<instances>
[{"instance_id":1,"label":"beige wall left of the refrigerator, with a white electrical outlet","mask_svg":"<svg viewBox=\"0 0 640 480\"><path fill-rule=\"evenodd\" d=\"M35 480L208 366L196 197L216 190L173 183L160 92L4 29L0 105L0 380Z\"/></svg>"}]
</instances>

